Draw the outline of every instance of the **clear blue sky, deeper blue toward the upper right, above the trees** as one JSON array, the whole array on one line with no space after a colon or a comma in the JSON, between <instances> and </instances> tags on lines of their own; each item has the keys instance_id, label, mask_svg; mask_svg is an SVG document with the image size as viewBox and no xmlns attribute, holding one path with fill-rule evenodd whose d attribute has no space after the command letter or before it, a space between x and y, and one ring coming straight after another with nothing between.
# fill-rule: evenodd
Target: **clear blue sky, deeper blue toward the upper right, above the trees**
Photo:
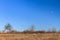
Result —
<instances>
[{"instance_id":1,"label":"clear blue sky, deeper blue toward the upper right, above the trees","mask_svg":"<svg viewBox=\"0 0 60 40\"><path fill-rule=\"evenodd\" d=\"M35 25L35 30L60 30L60 0L0 0L0 30L10 23L22 31Z\"/></svg>"}]
</instances>

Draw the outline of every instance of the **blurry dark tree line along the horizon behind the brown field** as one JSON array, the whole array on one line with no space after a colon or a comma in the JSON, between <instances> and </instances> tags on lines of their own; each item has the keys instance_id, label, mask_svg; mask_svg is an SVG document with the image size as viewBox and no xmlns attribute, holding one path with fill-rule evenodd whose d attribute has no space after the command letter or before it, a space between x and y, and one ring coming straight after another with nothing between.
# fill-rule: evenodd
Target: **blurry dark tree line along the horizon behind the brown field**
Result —
<instances>
[{"instance_id":1,"label":"blurry dark tree line along the horizon behind the brown field","mask_svg":"<svg viewBox=\"0 0 60 40\"><path fill-rule=\"evenodd\" d=\"M2 32L7 32L7 33L60 33L60 31L57 32L56 29L54 28L49 31L45 31L45 30L35 31L34 25L32 25L29 30L27 29L27 30L24 30L23 32L19 32L19 31L12 29L12 26L9 23L5 25L4 30Z\"/></svg>"}]
</instances>

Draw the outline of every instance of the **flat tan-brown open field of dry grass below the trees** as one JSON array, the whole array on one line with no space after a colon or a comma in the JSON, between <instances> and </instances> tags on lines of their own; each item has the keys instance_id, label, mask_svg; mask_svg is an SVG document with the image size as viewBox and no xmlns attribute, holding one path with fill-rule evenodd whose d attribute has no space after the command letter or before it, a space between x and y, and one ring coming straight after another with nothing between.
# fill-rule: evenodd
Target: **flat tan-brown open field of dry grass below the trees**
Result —
<instances>
[{"instance_id":1,"label":"flat tan-brown open field of dry grass below the trees","mask_svg":"<svg viewBox=\"0 0 60 40\"><path fill-rule=\"evenodd\" d=\"M60 40L60 33L0 34L0 40Z\"/></svg>"}]
</instances>

